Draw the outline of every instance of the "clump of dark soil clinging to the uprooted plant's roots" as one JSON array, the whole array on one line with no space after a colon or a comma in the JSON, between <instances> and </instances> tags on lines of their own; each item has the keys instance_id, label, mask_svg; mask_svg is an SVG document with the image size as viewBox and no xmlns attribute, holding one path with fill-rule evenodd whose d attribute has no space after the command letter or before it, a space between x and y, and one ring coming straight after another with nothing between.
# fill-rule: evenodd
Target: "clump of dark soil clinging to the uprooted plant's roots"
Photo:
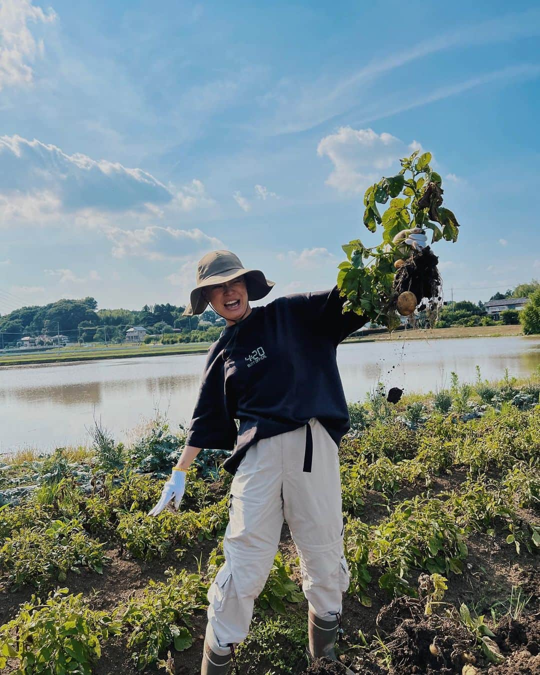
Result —
<instances>
[{"instance_id":1,"label":"clump of dark soil clinging to the uprooted plant's roots","mask_svg":"<svg viewBox=\"0 0 540 675\"><path fill-rule=\"evenodd\" d=\"M410 291L421 302L423 298L437 302L441 300L441 277L437 270L439 259L427 246L421 250L413 250L405 264L398 269L394 279L396 298Z\"/></svg>"}]
</instances>

